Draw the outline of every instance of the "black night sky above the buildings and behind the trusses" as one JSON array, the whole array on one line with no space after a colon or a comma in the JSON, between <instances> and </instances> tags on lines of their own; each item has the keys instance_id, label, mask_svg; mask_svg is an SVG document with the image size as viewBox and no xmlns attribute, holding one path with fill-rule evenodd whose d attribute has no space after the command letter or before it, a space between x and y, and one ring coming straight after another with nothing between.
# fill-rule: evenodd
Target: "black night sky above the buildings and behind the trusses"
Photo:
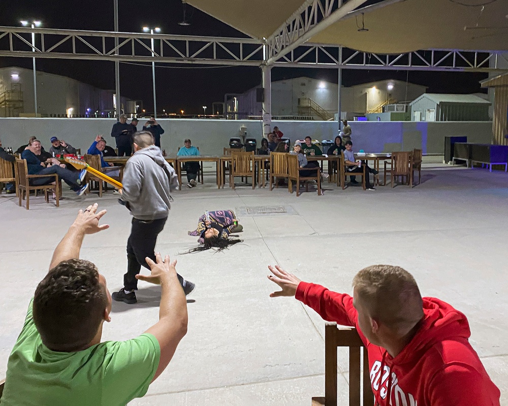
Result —
<instances>
[{"instance_id":1,"label":"black night sky above the buildings and behind the trusses","mask_svg":"<svg viewBox=\"0 0 508 406\"><path fill-rule=\"evenodd\" d=\"M374 2L377 0L374 0ZM246 38L236 29L186 5L186 20L190 26L180 26L183 5L180 0L146 0L125 2L119 0L119 30L141 32L145 25L161 27L162 33ZM19 21L39 19L46 28L114 30L113 1L88 2L26 1L1 2L0 25L19 26ZM0 58L0 66L21 66L31 69L30 58ZM115 88L114 62L37 59L37 70L65 75L103 88ZM242 93L261 83L259 67L181 67L156 64L157 110L199 114L202 106L211 111L213 101L223 101L225 93ZM324 69L272 69L272 81L308 76L337 83L337 70ZM428 87L429 93L480 92L479 81L487 74L454 72L378 71L344 69L343 86L351 86L380 79L398 79ZM147 111L153 110L151 64L144 66L120 62L120 94L143 100Z\"/></svg>"}]
</instances>

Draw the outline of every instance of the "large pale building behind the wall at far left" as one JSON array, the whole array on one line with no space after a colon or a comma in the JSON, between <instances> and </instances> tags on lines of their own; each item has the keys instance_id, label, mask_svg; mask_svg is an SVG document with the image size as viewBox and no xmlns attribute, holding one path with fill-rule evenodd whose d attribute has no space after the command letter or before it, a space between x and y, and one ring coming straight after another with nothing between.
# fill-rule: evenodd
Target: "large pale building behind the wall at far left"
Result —
<instances>
[{"instance_id":1,"label":"large pale building behind the wall at far left","mask_svg":"<svg viewBox=\"0 0 508 406\"><path fill-rule=\"evenodd\" d=\"M0 117L34 117L34 73L11 66L0 69ZM37 72L37 107L40 117L114 116L114 91L77 80ZM125 114L136 114L139 101L121 97Z\"/></svg>"}]
</instances>

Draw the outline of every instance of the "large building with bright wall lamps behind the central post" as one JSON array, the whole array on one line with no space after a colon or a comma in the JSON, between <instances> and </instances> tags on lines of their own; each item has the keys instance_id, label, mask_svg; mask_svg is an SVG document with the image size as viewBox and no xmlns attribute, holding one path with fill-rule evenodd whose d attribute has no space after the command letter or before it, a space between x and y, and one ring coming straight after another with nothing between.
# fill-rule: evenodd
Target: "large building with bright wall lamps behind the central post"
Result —
<instances>
[{"instance_id":1,"label":"large building with bright wall lamps behind the central post","mask_svg":"<svg viewBox=\"0 0 508 406\"><path fill-rule=\"evenodd\" d=\"M262 115L261 86L242 94L225 96L229 119L258 118ZM414 100L426 87L399 80L382 80L341 88L341 117L381 113L389 104ZM338 85L306 77L272 82L272 116L279 119L333 120L337 113Z\"/></svg>"}]
</instances>

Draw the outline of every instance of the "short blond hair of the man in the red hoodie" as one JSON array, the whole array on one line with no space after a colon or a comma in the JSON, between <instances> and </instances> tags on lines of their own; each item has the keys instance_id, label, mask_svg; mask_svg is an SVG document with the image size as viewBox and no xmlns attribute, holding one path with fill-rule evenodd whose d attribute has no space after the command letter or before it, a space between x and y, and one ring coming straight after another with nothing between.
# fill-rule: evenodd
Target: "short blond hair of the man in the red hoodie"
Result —
<instances>
[{"instance_id":1,"label":"short blond hair of the man in the red hoodie","mask_svg":"<svg viewBox=\"0 0 508 406\"><path fill-rule=\"evenodd\" d=\"M368 266L356 274L353 287L370 317L399 332L411 329L423 317L420 289L400 266Z\"/></svg>"}]
</instances>

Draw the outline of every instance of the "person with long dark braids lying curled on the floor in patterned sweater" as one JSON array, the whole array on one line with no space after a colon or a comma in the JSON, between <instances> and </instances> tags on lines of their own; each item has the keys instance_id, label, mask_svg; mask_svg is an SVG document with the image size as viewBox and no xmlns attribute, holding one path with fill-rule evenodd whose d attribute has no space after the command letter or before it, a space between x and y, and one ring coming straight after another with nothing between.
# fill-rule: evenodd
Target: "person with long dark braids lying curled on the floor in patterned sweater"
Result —
<instances>
[{"instance_id":1,"label":"person with long dark braids lying curled on the floor in patterned sweater","mask_svg":"<svg viewBox=\"0 0 508 406\"><path fill-rule=\"evenodd\" d=\"M238 224L235 213L232 210L218 210L205 212L198 220L198 227L194 231L188 231L188 235L199 236L199 247L190 249L189 252L204 251L217 248L221 251L230 245L241 243L242 240L230 240L229 234L243 231L243 226Z\"/></svg>"}]
</instances>

